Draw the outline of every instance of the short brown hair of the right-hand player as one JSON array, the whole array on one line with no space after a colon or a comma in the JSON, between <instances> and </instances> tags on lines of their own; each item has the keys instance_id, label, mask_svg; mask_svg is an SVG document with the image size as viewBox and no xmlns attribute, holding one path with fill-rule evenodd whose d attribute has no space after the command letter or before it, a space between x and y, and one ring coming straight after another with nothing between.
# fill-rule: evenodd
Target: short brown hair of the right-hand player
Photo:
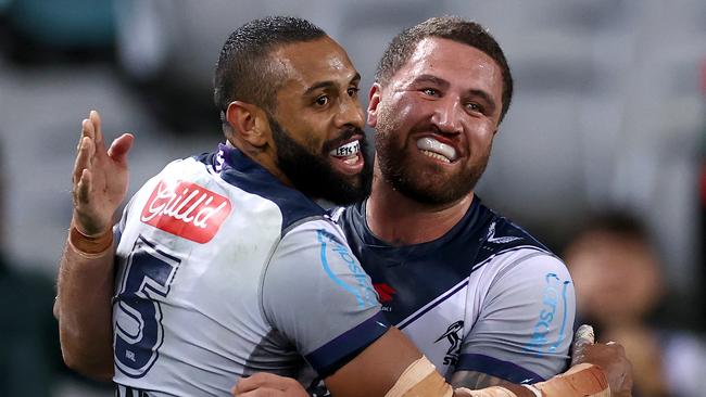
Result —
<instances>
[{"instance_id":1,"label":"short brown hair of the right-hand player","mask_svg":"<svg viewBox=\"0 0 706 397\"><path fill-rule=\"evenodd\" d=\"M458 16L432 17L395 36L378 63L375 80L384 86L409 61L417 43L427 37L439 37L474 47L497 63L503 73L503 108L500 115L502 120L513 98L513 76L505 54L486 28Z\"/></svg>"}]
</instances>

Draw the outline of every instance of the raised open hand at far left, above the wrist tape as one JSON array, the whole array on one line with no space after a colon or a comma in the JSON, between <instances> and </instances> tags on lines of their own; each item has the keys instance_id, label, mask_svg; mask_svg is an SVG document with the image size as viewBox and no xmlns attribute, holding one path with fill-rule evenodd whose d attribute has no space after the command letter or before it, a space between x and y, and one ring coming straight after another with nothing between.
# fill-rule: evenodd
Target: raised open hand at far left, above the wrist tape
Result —
<instances>
[{"instance_id":1,"label":"raised open hand at far left, above the wrist tape","mask_svg":"<svg viewBox=\"0 0 706 397\"><path fill-rule=\"evenodd\" d=\"M98 112L91 111L83 120L72 189L73 222L81 233L100 235L113 225L113 215L127 194L127 153L134 140L124 133L105 149Z\"/></svg>"}]
</instances>

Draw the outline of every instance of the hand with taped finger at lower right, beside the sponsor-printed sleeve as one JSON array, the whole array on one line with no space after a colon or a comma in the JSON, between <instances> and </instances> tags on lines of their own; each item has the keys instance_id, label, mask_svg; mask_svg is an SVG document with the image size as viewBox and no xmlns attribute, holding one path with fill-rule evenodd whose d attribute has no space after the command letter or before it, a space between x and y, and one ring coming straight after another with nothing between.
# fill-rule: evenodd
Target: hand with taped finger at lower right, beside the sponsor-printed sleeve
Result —
<instances>
[{"instance_id":1,"label":"hand with taped finger at lower right, beside the sponsor-printed sleeve","mask_svg":"<svg viewBox=\"0 0 706 397\"><path fill-rule=\"evenodd\" d=\"M608 379L612 396L632 396L632 364L625 348L615 342L594 343L590 325L579 326L573 338L571 366L581 362L601 367Z\"/></svg>"}]
</instances>

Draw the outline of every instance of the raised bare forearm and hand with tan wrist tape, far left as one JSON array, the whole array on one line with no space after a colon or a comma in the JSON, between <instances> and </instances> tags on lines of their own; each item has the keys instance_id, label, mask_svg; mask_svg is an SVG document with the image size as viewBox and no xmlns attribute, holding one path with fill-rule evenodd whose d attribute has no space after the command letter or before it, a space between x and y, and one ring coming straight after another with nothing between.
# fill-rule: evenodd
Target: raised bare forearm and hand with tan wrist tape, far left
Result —
<instances>
[{"instance_id":1,"label":"raised bare forearm and hand with tan wrist tape, far left","mask_svg":"<svg viewBox=\"0 0 706 397\"><path fill-rule=\"evenodd\" d=\"M87 376L113 375L113 215L127 192L133 136L105 149L100 117L81 124L73 174L74 213L60 261L54 316L66 366Z\"/></svg>"}]
</instances>

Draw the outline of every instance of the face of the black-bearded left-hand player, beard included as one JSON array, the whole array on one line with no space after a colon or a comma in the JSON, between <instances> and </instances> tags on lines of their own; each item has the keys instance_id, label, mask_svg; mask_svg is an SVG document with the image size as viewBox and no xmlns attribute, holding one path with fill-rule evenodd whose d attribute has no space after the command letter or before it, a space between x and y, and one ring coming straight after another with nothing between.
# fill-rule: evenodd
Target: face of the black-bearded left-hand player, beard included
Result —
<instances>
[{"instance_id":1,"label":"face of the black-bearded left-hand player, beard included","mask_svg":"<svg viewBox=\"0 0 706 397\"><path fill-rule=\"evenodd\" d=\"M294 187L337 204L369 193L361 76L343 49L326 37L285 46L273 57L286 80L269 121L277 163Z\"/></svg>"}]
</instances>

